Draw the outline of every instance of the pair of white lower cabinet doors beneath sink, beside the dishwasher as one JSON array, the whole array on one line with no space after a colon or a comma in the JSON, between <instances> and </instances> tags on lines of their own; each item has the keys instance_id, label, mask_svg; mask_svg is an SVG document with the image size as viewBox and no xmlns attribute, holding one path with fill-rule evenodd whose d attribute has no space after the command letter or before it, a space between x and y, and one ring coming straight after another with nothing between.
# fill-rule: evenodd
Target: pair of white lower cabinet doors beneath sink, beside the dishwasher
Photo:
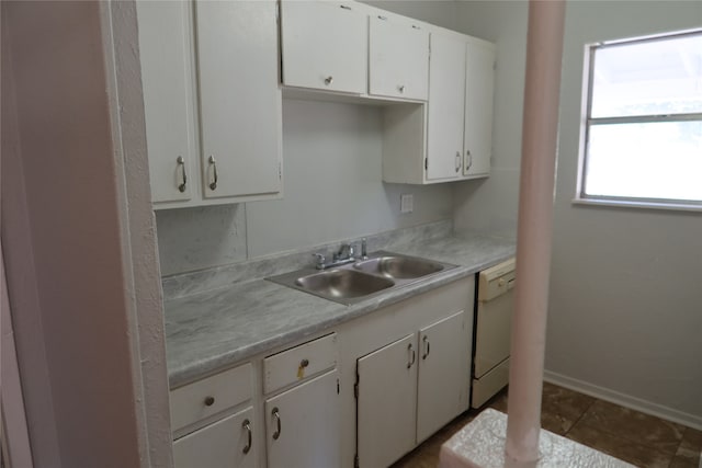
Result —
<instances>
[{"instance_id":1,"label":"pair of white lower cabinet doors beneath sink, beside the dishwasher","mask_svg":"<svg viewBox=\"0 0 702 468\"><path fill-rule=\"evenodd\" d=\"M461 310L358 359L360 467L390 465L467 409L467 320Z\"/></svg>"}]
</instances>

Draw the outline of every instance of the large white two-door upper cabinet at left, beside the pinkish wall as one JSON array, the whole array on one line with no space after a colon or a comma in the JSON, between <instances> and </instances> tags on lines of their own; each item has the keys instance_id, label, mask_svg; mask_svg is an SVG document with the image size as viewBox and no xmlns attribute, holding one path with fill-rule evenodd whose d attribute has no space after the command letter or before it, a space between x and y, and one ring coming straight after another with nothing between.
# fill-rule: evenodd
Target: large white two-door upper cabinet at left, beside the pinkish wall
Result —
<instances>
[{"instance_id":1,"label":"large white two-door upper cabinet at left, beside the pinkish wall","mask_svg":"<svg viewBox=\"0 0 702 468\"><path fill-rule=\"evenodd\" d=\"M276 2L137 2L155 208L278 198Z\"/></svg>"}]
</instances>

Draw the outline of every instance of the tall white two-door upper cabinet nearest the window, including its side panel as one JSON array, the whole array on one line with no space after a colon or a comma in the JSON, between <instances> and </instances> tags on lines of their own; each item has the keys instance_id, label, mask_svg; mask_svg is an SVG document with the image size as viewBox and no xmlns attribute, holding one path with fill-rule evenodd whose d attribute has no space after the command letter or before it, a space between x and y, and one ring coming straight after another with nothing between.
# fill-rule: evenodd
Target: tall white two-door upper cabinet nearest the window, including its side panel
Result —
<instances>
[{"instance_id":1,"label":"tall white two-door upper cabinet nearest the window, including its side panel","mask_svg":"<svg viewBox=\"0 0 702 468\"><path fill-rule=\"evenodd\" d=\"M420 110L386 113L393 118L384 135L385 182L432 184L490 172L495 45L444 30L431 32L430 45L426 134L418 130Z\"/></svg>"}]
</instances>

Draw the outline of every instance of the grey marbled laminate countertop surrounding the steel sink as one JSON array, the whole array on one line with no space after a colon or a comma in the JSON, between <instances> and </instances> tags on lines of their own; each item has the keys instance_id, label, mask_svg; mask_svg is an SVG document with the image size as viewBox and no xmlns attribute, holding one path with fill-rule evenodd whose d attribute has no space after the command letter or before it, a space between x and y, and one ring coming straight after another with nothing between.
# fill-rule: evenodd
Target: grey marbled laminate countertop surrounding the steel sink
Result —
<instances>
[{"instance_id":1,"label":"grey marbled laminate countertop surrounding the steel sink","mask_svg":"<svg viewBox=\"0 0 702 468\"><path fill-rule=\"evenodd\" d=\"M165 300L171 388L283 346L514 255L513 241L485 236L404 239L383 250L457 265L346 306L259 276ZM301 267L304 265L301 265ZM295 269L290 269L295 270ZM284 272L280 272L284 273Z\"/></svg>"}]
</instances>

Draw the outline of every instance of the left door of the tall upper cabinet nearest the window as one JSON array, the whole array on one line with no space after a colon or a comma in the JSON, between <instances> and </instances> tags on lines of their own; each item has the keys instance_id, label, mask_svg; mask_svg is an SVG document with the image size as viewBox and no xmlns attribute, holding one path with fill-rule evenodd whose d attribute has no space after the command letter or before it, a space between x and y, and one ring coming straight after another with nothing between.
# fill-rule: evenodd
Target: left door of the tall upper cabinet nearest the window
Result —
<instances>
[{"instance_id":1,"label":"left door of the tall upper cabinet nearest the window","mask_svg":"<svg viewBox=\"0 0 702 468\"><path fill-rule=\"evenodd\" d=\"M463 165L465 41L431 34L427 179L457 179Z\"/></svg>"}]
</instances>

